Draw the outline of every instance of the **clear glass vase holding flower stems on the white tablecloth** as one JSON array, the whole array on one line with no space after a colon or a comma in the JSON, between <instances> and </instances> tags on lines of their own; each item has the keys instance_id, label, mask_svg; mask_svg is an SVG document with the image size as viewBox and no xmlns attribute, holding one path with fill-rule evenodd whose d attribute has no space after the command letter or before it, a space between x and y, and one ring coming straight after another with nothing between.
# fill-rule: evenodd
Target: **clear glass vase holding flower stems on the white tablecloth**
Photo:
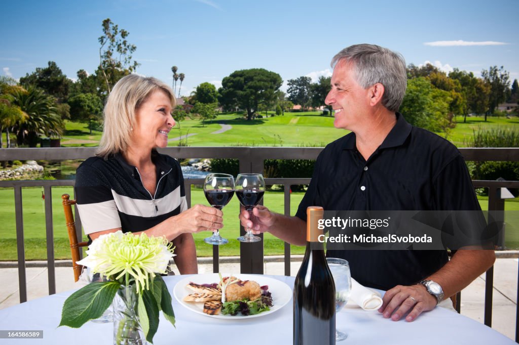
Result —
<instances>
[{"instance_id":1,"label":"clear glass vase holding flower stems on the white tablecloth","mask_svg":"<svg viewBox=\"0 0 519 345\"><path fill-rule=\"evenodd\" d=\"M114 299L114 345L144 345L146 337L137 314L135 285L121 286Z\"/></svg>"}]
</instances>

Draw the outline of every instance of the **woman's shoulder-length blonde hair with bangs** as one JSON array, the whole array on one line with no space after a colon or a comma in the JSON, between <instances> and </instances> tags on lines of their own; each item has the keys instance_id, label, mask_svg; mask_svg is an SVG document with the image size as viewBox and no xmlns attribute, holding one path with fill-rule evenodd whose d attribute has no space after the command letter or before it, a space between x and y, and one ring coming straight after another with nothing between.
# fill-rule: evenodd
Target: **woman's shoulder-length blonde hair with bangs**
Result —
<instances>
[{"instance_id":1,"label":"woman's shoulder-length blonde hair with bangs","mask_svg":"<svg viewBox=\"0 0 519 345\"><path fill-rule=\"evenodd\" d=\"M161 90L171 99L171 108L176 105L173 90L153 77L130 74L121 78L112 89L103 111L103 135L97 155L107 159L128 148L131 131L135 123L135 110L139 109L149 95Z\"/></svg>"}]
</instances>

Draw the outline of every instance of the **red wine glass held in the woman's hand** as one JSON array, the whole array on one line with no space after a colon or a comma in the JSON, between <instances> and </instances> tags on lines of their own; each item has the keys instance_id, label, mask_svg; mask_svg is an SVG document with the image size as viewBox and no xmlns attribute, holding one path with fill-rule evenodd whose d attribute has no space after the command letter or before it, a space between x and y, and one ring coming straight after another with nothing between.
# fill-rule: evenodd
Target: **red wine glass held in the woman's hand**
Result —
<instances>
[{"instance_id":1,"label":"red wine glass held in the woman's hand","mask_svg":"<svg viewBox=\"0 0 519 345\"><path fill-rule=\"evenodd\" d=\"M234 195L234 177L228 174L209 174L203 182L203 193L209 204L221 210ZM213 232L211 237L204 241L210 245L225 245L229 243L226 238L220 236L218 230Z\"/></svg>"}]
</instances>

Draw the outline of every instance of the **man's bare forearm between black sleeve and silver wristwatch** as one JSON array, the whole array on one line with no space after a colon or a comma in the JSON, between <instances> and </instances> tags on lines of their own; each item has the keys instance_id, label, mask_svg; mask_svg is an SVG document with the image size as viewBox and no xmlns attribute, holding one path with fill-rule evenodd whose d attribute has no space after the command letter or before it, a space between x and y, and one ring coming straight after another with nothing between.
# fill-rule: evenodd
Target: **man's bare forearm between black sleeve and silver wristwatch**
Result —
<instances>
[{"instance_id":1,"label":"man's bare forearm between black sleeve and silver wristwatch","mask_svg":"<svg viewBox=\"0 0 519 345\"><path fill-rule=\"evenodd\" d=\"M465 289L490 268L495 260L496 254L493 250L460 249L445 266L427 279L440 284L447 298Z\"/></svg>"}]
</instances>

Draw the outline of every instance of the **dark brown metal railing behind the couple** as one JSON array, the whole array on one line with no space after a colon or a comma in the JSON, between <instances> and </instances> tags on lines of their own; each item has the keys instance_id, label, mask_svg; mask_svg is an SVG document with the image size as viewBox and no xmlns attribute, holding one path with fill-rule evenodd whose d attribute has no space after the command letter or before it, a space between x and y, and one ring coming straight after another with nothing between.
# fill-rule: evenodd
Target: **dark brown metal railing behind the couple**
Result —
<instances>
[{"instance_id":1,"label":"dark brown metal railing behind the couple","mask_svg":"<svg viewBox=\"0 0 519 345\"><path fill-rule=\"evenodd\" d=\"M259 172L263 174L264 161L267 159L301 159L315 160L322 148L261 148L261 147L168 147L159 150L177 159L192 158L232 158L239 161L240 172ZM460 148L459 151L466 161L519 161L519 148ZM95 154L95 148L31 148L31 149L0 149L0 161L13 160L81 160ZM290 186L295 184L308 184L309 178L267 178L266 184L279 184L284 188L284 214L290 215ZM202 184L203 179L186 179L185 190L188 205L191 201L191 185ZM488 210L503 211L504 201L498 197L500 188L519 188L519 181L473 181L476 188L488 188ZM52 199L51 188L54 186L73 186L73 180L38 180L38 181L0 181L0 187L13 188L15 192L16 233L18 249L18 273L20 286L20 302L27 300L24 231L22 217L22 193L23 187L43 186L45 195L45 226L47 236L47 266L49 294L56 292L56 278L54 272L54 242L52 224ZM78 213L76 212L76 217ZM81 236L79 217L76 223ZM240 226L240 233L244 229ZM263 238L263 235L260 235ZM218 267L218 246L213 246L213 271ZM240 244L240 268L242 273L263 274L263 241L256 243ZM284 243L284 272L290 275L290 245ZM486 273L485 289L485 324L491 326L492 299L493 299L493 268ZM518 299L519 299L519 280ZM460 308L460 296L458 296L457 310ZM519 308L516 309L516 341L519 342Z\"/></svg>"}]
</instances>

